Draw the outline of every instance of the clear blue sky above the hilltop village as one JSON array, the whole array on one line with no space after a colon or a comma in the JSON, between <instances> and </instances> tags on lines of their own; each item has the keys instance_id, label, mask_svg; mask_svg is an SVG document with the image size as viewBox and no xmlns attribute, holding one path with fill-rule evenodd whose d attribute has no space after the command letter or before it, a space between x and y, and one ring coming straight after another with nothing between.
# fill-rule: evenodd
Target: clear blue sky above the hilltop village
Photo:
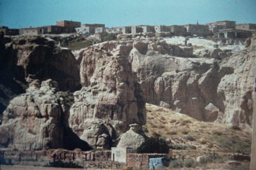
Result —
<instances>
[{"instance_id":1,"label":"clear blue sky above the hilltop village","mask_svg":"<svg viewBox=\"0 0 256 170\"><path fill-rule=\"evenodd\" d=\"M256 0L0 0L0 25L55 25L56 20L122 25L256 23Z\"/></svg>"}]
</instances>

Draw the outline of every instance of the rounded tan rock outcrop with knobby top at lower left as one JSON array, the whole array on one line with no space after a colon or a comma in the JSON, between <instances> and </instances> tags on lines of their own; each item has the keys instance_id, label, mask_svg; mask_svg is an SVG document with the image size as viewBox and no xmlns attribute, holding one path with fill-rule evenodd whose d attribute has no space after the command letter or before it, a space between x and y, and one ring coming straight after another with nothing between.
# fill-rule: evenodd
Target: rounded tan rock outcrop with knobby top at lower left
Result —
<instances>
[{"instance_id":1,"label":"rounded tan rock outcrop with knobby top at lower left","mask_svg":"<svg viewBox=\"0 0 256 170\"><path fill-rule=\"evenodd\" d=\"M3 113L1 145L17 149L63 147L66 106L56 81L35 80Z\"/></svg>"}]
</instances>

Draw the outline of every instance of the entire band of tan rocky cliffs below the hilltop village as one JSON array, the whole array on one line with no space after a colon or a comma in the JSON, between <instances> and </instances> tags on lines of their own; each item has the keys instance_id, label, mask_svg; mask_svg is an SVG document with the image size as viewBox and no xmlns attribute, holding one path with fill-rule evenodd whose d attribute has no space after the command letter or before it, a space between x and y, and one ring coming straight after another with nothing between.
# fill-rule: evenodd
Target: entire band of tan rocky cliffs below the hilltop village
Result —
<instances>
[{"instance_id":1,"label":"entire band of tan rocky cliffs below the hilltop village","mask_svg":"<svg viewBox=\"0 0 256 170\"><path fill-rule=\"evenodd\" d=\"M192 47L149 36L98 43L75 55L51 38L14 36L6 43L1 36L0 145L110 148L129 125L147 123L146 102L249 127L255 41L241 53L195 58Z\"/></svg>"}]
</instances>

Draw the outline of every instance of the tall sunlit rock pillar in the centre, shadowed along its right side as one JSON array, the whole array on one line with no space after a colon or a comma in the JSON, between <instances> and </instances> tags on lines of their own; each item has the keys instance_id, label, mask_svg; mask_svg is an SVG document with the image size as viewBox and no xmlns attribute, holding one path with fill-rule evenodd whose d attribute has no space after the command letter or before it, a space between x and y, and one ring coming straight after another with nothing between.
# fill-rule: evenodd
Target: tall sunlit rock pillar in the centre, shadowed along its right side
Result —
<instances>
[{"instance_id":1,"label":"tall sunlit rock pillar in the centre, shadowed along its right side","mask_svg":"<svg viewBox=\"0 0 256 170\"><path fill-rule=\"evenodd\" d=\"M83 88L74 93L68 122L93 148L109 148L129 124L145 124L140 84L125 56L131 49L109 41L83 52Z\"/></svg>"}]
</instances>

